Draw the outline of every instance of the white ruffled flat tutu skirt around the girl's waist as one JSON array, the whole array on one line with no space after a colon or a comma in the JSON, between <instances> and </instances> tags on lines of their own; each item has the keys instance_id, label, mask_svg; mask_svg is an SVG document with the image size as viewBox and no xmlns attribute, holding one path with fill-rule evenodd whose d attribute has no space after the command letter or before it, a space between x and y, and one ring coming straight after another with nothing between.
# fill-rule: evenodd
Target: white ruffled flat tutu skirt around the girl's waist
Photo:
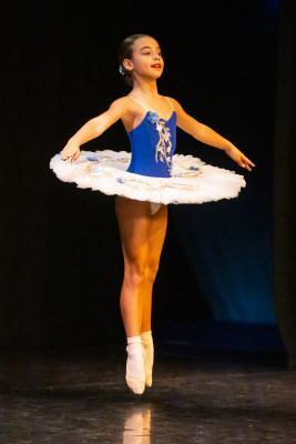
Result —
<instances>
[{"instance_id":1,"label":"white ruffled flat tutu skirt around the girl's waist","mask_svg":"<svg viewBox=\"0 0 296 444\"><path fill-rule=\"evenodd\" d=\"M170 178L127 172L130 162L131 153L125 151L81 150L74 162L55 154L50 168L63 182L74 182L78 188L104 194L149 201L154 204L154 210L161 203L203 203L236 198L241 188L246 186L243 175L206 164L193 155L174 154Z\"/></svg>"}]
</instances>

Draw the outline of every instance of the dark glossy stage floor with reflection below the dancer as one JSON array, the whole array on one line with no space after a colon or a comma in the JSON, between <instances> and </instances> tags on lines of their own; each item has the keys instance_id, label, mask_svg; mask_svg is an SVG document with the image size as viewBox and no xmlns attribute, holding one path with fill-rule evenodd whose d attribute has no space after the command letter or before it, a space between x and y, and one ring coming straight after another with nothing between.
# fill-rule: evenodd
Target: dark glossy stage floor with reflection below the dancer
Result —
<instances>
[{"instance_id":1,"label":"dark glossy stage floor with reflection below the dancer","mask_svg":"<svg viewBox=\"0 0 296 444\"><path fill-rule=\"evenodd\" d=\"M0 443L296 443L296 372L155 344L153 385L125 384L125 344L1 350Z\"/></svg>"}]
</instances>

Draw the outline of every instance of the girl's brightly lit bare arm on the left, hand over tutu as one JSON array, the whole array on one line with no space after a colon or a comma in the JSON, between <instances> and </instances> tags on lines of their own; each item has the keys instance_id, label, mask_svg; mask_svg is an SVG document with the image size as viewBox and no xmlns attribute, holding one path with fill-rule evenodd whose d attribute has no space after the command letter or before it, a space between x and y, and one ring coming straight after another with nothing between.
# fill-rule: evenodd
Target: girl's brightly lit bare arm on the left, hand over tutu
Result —
<instances>
[{"instance_id":1,"label":"girl's brightly lit bare arm on the left, hand over tutu","mask_svg":"<svg viewBox=\"0 0 296 444\"><path fill-rule=\"evenodd\" d=\"M61 151L61 159L71 158L75 161L80 155L80 145L101 135L109 127L115 123L126 111L129 111L129 99L126 97L114 100L109 109L102 114L89 120L83 127L69 139Z\"/></svg>"}]
</instances>

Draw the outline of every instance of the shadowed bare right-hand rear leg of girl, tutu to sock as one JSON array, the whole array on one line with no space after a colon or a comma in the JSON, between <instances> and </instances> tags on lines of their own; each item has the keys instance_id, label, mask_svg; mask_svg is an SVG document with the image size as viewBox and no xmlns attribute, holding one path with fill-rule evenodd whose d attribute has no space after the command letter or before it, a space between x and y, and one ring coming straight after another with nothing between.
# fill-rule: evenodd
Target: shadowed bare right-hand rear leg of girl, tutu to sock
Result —
<instances>
[{"instance_id":1,"label":"shadowed bare right-hand rear leg of girl, tutu to sock","mask_svg":"<svg viewBox=\"0 0 296 444\"><path fill-rule=\"evenodd\" d=\"M141 285L142 299L142 325L141 332L151 330L152 313L152 289L157 274L162 248L167 226L167 206L162 205L160 210L152 215L152 222L149 231L149 255L144 269L144 281Z\"/></svg>"}]
</instances>

